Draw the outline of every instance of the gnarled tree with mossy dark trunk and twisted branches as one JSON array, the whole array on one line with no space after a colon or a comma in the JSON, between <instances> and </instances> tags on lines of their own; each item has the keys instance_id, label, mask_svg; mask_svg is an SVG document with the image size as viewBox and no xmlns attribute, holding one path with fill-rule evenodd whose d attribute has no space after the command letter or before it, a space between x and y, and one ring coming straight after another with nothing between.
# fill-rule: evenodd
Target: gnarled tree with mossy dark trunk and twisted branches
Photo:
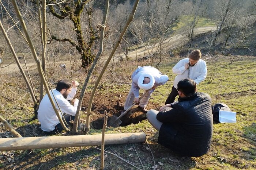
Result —
<instances>
[{"instance_id":1,"label":"gnarled tree with mossy dark trunk and twisted branches","mask_svg":"<svg viewBox=\"0 0 256 170\"><path fill-rule=\"evenodd\" d=\"M36 3L36 0L31 1ZM40 3L42 3L42 0L40 0ZM50 38L59 42L69 42L74 46L82 57L82 66L84 68L93 62L95 55L92 53L91 48L94 45L94 41L100 38L100 28L94 28L92 23L92 3L90 0L67 0L63 3L56 3L56 0L46 0L46 12L51 13L60 20L70 20L73 23L72 30L74 31L76 40L67 36L60 37L59 35L53 34L50 34ZM88 40L84 38L84 30L81 23L81 15L84 9L88 17Z\"/></svg>"}]
</instances>

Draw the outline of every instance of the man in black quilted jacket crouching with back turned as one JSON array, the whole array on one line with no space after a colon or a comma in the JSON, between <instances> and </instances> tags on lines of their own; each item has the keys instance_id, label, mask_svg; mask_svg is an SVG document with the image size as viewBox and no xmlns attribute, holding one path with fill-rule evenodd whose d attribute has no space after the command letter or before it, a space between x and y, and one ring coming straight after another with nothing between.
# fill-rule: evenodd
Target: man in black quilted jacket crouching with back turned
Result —
<instances>
[{"instance_id":1,"label":"man in black quilted jacket crouching with back turned","mask_svg":"<svg viewBox=\"0 0 256 170\"><path fill-rule=\"evenodd\" d=\"M200 157L210 150L212 138L211 98L196 92L191 79L178 82L178 101L147 112L147 119L159 131L157 143L181 156Z\"/></svg>"}]
</instances>

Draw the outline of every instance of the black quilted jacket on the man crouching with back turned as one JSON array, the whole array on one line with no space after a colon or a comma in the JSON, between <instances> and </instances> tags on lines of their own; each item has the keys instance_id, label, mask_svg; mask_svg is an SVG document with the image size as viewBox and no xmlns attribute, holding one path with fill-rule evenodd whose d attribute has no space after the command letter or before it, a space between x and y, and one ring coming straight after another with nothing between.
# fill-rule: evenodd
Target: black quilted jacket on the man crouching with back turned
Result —
<instances>
[{"instance_id":1,"label":"black quilted jacket on the man crouching with back turned","mask_svg":"<svg viewBox=\"0 0 256 170\"><path fill-rule=\"evenodd\" d=\"M172 108L165 114L173 122L163 123L158 143L184 156L199 157L205 154L210 149L212 136L210 96L197 92L193 96L179 98ZM159 121L161 114L157 115ZM168 132L170 129L172 132ZM166 136L170 134L172 138L166 141Z\"/></svg>"}]
</instances>

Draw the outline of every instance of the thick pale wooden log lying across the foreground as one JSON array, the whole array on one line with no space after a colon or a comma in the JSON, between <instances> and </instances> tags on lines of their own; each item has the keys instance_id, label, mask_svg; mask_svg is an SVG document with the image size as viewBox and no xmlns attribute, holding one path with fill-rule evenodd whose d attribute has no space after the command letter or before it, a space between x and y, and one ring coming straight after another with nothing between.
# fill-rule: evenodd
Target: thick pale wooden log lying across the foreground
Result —
<instances>
[{"instance_id":1,"label":"thick pale wooden log lying across the foreground","mask_svg":"<svg viewBox=\"0 0 256 170\"><path fill-rule=\"evenodd\" d=\"M105 144L140 143L144 133L105 134ZM46 149L101 145L101 135L43 136L28 138L1 138L0 151Z\"/></svg>"}]
</instances>

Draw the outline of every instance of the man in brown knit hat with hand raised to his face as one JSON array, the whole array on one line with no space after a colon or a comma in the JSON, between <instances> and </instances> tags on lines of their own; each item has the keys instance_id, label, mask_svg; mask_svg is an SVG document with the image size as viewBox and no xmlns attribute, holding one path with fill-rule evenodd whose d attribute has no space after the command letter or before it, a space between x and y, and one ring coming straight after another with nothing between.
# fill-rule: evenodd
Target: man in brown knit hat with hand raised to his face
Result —
<instances>
[{"instance_id":1,"label":"man in brown knit hat with hand raised to his face","mask_svg":"<svg viewBox=\"0 0 256 170\"><path fill-rule=\"evenodd\" d=\"M166 99L165 104L173 103L175 97L178 96L177 84L180 80L190 78L197 85L204 81L207 75L207 67L206 62L201 59L201 56L200 50L193 50L188 55L189 58L182 59L173 67L173 73L178 75L174 79L172 91Z\"/></svg>"}]
</instances>

